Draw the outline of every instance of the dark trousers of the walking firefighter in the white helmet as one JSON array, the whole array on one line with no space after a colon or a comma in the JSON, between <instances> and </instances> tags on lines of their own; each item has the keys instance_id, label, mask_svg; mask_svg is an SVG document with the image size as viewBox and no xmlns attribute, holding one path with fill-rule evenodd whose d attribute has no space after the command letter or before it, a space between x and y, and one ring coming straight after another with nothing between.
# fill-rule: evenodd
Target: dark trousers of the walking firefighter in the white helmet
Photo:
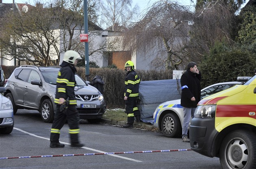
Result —
<instances>
[{"instance_id":1,"label":"dark trousers of the walking firefighter in the white helmet","mask_svg":"<svg viewBox=\"0 0 256 169\"><path fill-rule=\"evenodd\" d=\"M52 123L50 142L59 142L60 130L63 125L67 123L69 125L69 135L71 143L78 143L79 129L79 114L76 110L76 106L70 106L67 108L67 112L63 113L59 111L60 105L56 106L56 112L54 114L54 120Z\"/></svg>"}]
</instances>

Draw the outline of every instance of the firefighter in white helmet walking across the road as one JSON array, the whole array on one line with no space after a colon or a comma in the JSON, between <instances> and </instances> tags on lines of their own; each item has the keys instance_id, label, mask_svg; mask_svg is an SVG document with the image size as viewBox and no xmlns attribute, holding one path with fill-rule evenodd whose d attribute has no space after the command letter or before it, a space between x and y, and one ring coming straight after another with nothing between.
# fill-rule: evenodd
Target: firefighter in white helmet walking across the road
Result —
<instances>
[{"instance_id":1,"label":"firefighter in white helmet walking across the road","mask_svg":"<svg viewBox=\"0 0 256 169\"><path fill-rule=\"evenodd\" d=\"M75 72L78 59L82 59L76 51L66 51L64 53L61 69L59 70L56 79L56 95L54 103L56 104L56 112L52 123L50 134L50 147L62 148L65 145L59 142L60 130L65 124L66 120L69 125L69 136L71 139L71 147L84 146L79 142L79 114L76 110L76 97L74 87L76 85ZM66 109L62 110L61 105L67 101Z\"/></svg>"}]
</instances>

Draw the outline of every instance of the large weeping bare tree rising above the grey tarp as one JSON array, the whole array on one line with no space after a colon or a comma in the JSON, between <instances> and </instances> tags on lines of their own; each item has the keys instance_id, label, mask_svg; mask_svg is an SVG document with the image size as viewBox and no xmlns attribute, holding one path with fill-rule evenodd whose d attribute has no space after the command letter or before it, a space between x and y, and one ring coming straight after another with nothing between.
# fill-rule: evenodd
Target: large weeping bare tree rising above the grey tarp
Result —
<instances>
[{"instance_id":1,"label":"large weeping bare tree rising above the grey tarp","mask_svg":"<svg viewBox=\"0 0 256 169\"><path fill-rule=\"evenodd\" d=\"M155 2L145 17L126 32L123 44L131 51L143 51L146 57L156 55L152 61L155 68L164 65L165 69L178 70L190 57L187 48L192 15L188 6L169 0Z\"/></svg>"}]
</instances>

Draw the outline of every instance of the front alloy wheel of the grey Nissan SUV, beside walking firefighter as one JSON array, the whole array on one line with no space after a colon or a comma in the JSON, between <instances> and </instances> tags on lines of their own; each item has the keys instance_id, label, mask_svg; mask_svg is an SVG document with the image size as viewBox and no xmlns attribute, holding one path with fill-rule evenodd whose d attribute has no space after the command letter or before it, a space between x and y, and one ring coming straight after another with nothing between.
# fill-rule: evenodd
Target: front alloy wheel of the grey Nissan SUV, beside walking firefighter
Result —
<instances>
[{"instance_id":1,"label":"front alloy wheel of the grey Nissan SUV, beside walking firefighter","mask_svg":"<svg viewBox=\"0 0 256 169\"><path fill-rule=\"evenodd\" d=\"M45 99L43 101L43 103L41 104L40 114L43 122L52 123L54 118L54 112L50 99Z\"/></svg>"}]
</instances>

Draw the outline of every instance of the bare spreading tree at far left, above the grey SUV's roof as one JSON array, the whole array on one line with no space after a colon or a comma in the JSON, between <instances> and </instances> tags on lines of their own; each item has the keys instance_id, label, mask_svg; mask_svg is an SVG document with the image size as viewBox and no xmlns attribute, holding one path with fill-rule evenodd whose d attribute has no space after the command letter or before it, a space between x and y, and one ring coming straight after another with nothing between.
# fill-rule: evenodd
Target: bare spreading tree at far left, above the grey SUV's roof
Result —
<instances>
[{"instance_id":1,"label":"bare spreading tree at far left, above the grey SUV's roof","mask_svg":"<svg viewBox=\"0 0 256 169\"><path fill-rule=\"evenodd\" d=\"M42 17L43 16L43 17ZM9 13L1 21L0 44L5 59L16 58L34 65L52 65L59 59L59 35L53 28L53 14L42 6L28 12Z\"/></svg>"}]
</instances>

